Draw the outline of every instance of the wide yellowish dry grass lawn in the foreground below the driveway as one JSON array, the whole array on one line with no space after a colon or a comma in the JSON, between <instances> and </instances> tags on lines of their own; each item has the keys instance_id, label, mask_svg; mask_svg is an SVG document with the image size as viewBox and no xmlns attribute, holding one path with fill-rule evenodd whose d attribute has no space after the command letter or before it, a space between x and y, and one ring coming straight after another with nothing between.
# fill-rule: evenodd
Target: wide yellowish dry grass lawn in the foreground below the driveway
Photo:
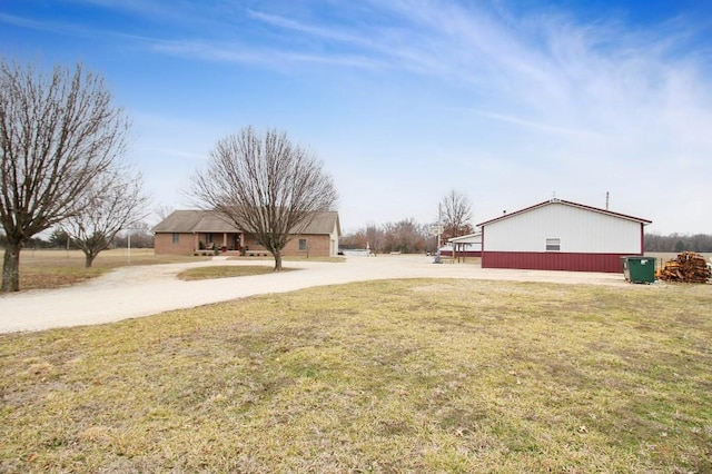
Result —
<instances>
[{"instance_id":1,"label":"wide yellowish dry grass lawn in the foreground below the driveway","mask_svg":"<svg viewBox=\"0 0 712 474\"><path fill-rule=\"evenodd\" d=\"M0 336L0 472L712 472L712 286L393 280Z\"/></svg>"}]
</instances>

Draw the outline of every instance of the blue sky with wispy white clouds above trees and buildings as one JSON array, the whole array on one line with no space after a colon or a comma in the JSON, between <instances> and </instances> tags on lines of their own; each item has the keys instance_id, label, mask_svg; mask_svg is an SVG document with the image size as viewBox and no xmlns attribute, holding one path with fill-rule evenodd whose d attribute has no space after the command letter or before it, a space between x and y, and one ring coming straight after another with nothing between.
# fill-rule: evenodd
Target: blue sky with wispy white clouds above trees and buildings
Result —
<instances>
[{"instance_id":1,"label":"blue sky with wispy white clouds above trees and buildings","mask_svg":"<svg viewBox=\"0 0 712 474\"><path fill-rule=\"evenodd\" d=\"M2 0L0 53L102 75L156 206L251 125L324 161L346 231L457 189L475 223L609 192L712 234L708 0Z\"/></svg>"}]
</instances>

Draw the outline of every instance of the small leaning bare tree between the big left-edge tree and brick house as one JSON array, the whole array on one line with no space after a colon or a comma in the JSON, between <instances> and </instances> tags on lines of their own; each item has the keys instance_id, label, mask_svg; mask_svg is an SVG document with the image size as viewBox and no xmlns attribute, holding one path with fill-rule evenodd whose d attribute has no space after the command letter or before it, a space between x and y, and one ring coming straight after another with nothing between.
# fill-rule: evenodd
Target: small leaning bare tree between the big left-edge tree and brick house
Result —
<instances>
[{"instance_id":1,"label":"small leaning bare tree between the big left-edge tree and brick house","mask_svg":"<svg viewBox=\"0 0 712 474\"><path fill-rule=\"evenodd\" d=\"M67 218L63 229L85 253L87 268L99 253L109 248L119 230L148 216L142 177L127 168L111 169L97 177L81 200L81 210Z\"/></svg>"}]
</instances>

